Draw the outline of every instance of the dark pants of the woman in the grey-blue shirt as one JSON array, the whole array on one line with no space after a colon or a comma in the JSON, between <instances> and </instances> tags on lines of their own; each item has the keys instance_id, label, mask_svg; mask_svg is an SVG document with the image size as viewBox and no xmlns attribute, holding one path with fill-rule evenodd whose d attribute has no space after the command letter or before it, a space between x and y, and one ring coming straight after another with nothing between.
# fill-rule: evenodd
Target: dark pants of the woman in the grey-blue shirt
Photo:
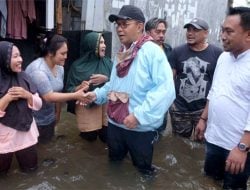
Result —
<instances>
[{"instance_id":1,"label":"dark pants of the woman in the grey-blue shirt","mask_svg":"<svg viewBox=\"0 0 250 190\"><path fill-rule=\"evenodd\" d=\"M47 143L51 141L51 139L55 135L55 126L56 126L56 121L53 121L48 125L38 125L37 126L39 131L38 142Z\"/></svg>"}]
</instances>

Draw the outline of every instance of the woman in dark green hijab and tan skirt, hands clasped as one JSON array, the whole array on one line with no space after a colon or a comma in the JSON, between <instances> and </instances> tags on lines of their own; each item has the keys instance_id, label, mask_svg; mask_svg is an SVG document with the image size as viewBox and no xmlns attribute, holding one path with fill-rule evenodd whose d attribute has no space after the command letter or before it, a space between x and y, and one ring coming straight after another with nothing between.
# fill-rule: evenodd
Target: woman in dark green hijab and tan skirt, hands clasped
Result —
<instances>
[{"instance_id":1,"label":"woman in dark green hijab and tan skirt, hands clasped","mask_svg":"<svg viewBox=\"0 0 250 190\"><path fill-rule=\"evenodd\" d=\"M82 57L72 63L67 77L66 90L74 92L89 82L89 91L101 87L109 80L112 69L110 58L105 56L106 45L101 33L90 32L81 41ZM94 103L82 106L69 102L68 111L76 114L80 136L88 141L99 138L106 142L106 105Z\"/></svg>"}]
</instances>

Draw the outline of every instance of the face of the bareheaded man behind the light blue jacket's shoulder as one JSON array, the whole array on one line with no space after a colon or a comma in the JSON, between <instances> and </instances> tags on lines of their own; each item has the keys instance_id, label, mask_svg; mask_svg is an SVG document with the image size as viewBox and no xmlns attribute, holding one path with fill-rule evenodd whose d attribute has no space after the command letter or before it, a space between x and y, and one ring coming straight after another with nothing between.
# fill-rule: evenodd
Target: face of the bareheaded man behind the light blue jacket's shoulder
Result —
<instances>
[{"instance_id":1,"label":"face of the bareheaded man behind the light blue jacket's shoulder","mask_svg":"<svg viewBox=\"0 0 250 190\"><path fill-rule=\"evenodd\" d=\"M160 46L165 41L165 35L166 35L167 28L163 23L159 23L156 28L149 31L149 35L152 36L152 38L156 41L157 44Z\"/></svg>"}]
</instances>

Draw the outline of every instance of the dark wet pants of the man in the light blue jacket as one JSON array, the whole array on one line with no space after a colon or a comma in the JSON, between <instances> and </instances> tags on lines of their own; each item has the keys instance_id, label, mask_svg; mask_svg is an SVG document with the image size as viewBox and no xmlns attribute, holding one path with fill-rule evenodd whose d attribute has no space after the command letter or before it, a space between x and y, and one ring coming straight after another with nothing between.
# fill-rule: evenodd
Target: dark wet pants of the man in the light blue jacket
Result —
<instances>
[{"instance_id":1,"label":"dark wet pants of the man in the light blue jacket","mask_svg":"<svg viewBox=\"0 0 250 190\"><path fill-rule=\"evenodd\" d=\"M111 161L120 161L129 152L134 166L142 173L153 171L153 143L157 132L136 132L108 125L108 147Z\"/></svg>"}]
</instances>

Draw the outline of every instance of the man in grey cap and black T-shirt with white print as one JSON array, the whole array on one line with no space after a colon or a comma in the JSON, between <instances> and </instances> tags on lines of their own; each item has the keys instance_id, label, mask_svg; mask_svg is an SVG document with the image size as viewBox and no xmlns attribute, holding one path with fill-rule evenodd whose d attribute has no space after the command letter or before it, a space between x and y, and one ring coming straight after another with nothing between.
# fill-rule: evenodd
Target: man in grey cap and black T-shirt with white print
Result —
<instances>
[{"instance_id":1,"label":"man in grey cap and black T-shirt with white print","mask_svg":"<svg viewBox=\"0 0 250 190\"><path fill-rule=\"evenodd\" d=\"M217 59L222 50L207 42L206 21L195 18L184 25L187 43L173 49L169 62L173 69L176 99L170 108L174 134L191 137L212 84Z\"/></svg>"}]
</instances>

